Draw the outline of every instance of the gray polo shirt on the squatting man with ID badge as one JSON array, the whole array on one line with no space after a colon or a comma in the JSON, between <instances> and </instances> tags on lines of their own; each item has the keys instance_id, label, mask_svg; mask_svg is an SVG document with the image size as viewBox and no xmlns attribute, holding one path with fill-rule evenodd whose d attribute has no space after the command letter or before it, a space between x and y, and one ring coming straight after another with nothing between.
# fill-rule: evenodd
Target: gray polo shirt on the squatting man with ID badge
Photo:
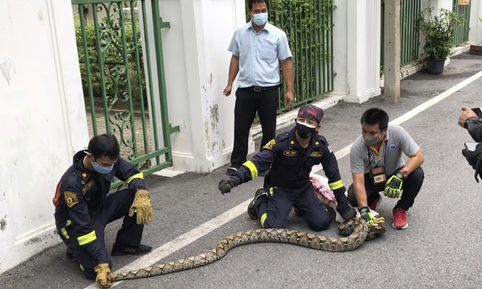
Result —
<instances>
[{"instance_id":1,"label":"gray polo shirt on the squatting man with ID badge","mask_svg":"<svg viewBox=\"0 0 482 289\"><path fill-rule=\"evenodd\" d=\"M363 136L359 136L350 150L350 164L352 173L369 173L370 169L385 166L387 178L393 175L399 167L403 167L404 160L401 153L411 158L419 151L408 132L399 125L388 125L384 143L381 144L379 156L366 146Z\"/></svg>"}]
</instances>

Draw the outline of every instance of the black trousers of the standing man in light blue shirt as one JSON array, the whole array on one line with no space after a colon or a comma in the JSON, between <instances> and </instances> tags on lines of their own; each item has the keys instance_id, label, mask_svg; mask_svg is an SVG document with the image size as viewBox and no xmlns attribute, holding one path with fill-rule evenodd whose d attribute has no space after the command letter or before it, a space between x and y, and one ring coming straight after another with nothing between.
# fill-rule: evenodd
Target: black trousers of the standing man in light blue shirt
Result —
<instances>
[{"instance_id":1,"label":"black trousers of the standing man in light blue shirt","mask_svg":"<svg viewBox=\"0 0 482 289\"><path fill-rule=\"evenodd\" d=\"M278 89L273 88L265 92L238 88L234 107L234 146L231 155L231 165L241 167L246 162L248 154L249 129L258 111L263 132L261 147L276 136L276 111Z\"/></svg>"}]
</instances>

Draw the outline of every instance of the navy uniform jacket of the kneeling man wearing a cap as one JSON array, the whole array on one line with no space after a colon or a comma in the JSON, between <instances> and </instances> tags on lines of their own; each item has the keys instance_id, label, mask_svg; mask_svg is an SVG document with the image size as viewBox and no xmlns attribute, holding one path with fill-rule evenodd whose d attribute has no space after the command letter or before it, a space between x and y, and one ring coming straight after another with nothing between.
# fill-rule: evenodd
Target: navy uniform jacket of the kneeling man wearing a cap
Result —
<instances>
[{"instance_id":1,"label":"navy uniform jacket of the kneeling man wearing a cap","mask_svg":"<svg viewBox=\"0 0 482 289\"><path fill-rule=\"evenodd\" d=\"M326 138L314 134L308 147L302 149L296 140L295 128L289 133L279 134L267 143L252 160L245 162L236 174L241 183L249 182L258 176L258 171L267 171L271 165L264 180L265 186L300 189L309 182L311 168L320 163L338 204L348 202L335 154Z\"/></svg>"}]
</instances>

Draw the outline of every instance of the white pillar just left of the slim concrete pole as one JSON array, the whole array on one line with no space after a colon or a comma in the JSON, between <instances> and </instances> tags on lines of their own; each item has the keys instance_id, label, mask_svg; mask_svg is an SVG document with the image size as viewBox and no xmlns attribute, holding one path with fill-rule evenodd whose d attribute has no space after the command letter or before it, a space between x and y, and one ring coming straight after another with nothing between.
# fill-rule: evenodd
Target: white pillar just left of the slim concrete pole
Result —
<instances>
[{"instance_id":1,"label":"white pillar just left of the slim concrete pole","mask_svg":"<svg viewBox=\"0 0 482 289\"><path fill-rule=\"evenodd\" d=\"M338 1L337 6L337 9L346 6L347 13L347 96L344 100L363 103L380 94L381 3L380 0ZM342 73L342 66L339 68L335 71Z\"/></svg>"}]
</instances>

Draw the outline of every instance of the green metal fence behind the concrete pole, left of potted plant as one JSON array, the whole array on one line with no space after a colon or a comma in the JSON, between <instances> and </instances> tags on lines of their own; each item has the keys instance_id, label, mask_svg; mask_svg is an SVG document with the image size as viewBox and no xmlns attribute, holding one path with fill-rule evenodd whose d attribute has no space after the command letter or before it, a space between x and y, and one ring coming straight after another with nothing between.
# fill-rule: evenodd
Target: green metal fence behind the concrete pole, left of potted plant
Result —
<instances>
[{"instance_id":1,"label":"green metal fence behind the concrete pole, left of potted plant","mask_svg":"<svg viewBox=\"0 0 482 289\"><path fill-rule=\"evenodd\" d=\"M417 16L420 12L421 0L400 1L400 65L415 61L419 58L419 30ZM384 70L384 1L381 2L381 50L380 73Z\"/></svg>"}]
</instances>

